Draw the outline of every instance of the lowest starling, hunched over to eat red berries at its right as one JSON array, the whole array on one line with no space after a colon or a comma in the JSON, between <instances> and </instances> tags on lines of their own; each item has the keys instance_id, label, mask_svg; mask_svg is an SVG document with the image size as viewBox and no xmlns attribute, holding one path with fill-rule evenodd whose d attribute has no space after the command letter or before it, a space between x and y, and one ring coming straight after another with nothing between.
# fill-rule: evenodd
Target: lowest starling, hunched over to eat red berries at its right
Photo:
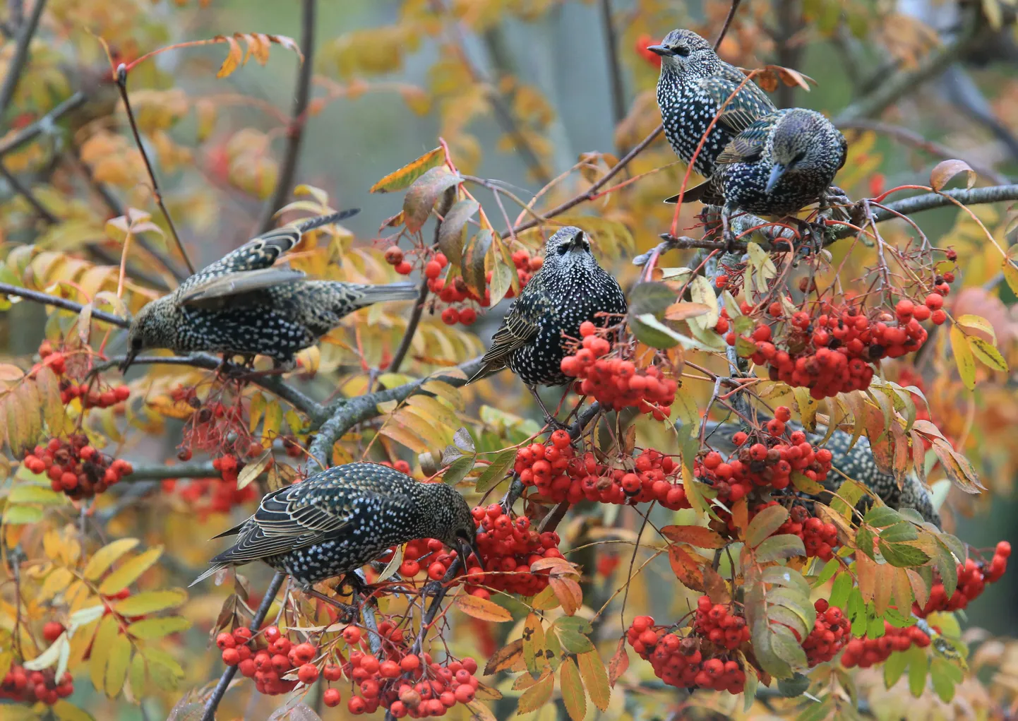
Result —
<instances>
[{"instance_id":1,"label":"lowest starling, hunched over to eat red berries at its right","mask_svg":"<svg viewBox=\"0 0 1018 721\"><path fill-rule=\"evenodd\" d=\"M461 553L475 548L473 516L456 489L378 463L337 465L273 491L254 515L216 538L224 536L237 542L191 586L220 568L264 561L306 587L420 538Z\"/></svg>"}]
</instances>

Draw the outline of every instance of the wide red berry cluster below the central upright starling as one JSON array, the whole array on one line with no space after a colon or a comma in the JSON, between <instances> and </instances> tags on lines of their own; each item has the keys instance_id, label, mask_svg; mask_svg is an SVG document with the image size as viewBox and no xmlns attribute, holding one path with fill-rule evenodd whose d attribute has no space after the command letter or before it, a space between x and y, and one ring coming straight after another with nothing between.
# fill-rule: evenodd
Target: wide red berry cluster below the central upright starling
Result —
<instances>
[{"instance_id":1,"label":"wide red berry cluster below the central upright starling","mask_svg":"<svg viewBox=\"0 0 1018 721\"><path fill-rule=\"evenodd\" d=\"M633 470L609 468L591 452L576 457L571 443L569 434L559 430L548 445L531 443L520 448L513 466L520 482L556 503L658 501L671 510L690 507L685 489L675 479L678 466L671 456L647 449L636 457Z\"/></svg>"}]
</instances>

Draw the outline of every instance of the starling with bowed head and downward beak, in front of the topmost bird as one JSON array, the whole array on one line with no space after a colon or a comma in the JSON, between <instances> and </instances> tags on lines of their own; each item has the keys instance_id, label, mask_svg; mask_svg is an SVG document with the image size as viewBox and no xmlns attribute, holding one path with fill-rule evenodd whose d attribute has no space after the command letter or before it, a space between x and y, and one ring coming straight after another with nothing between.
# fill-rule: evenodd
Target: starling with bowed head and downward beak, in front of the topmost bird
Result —
<instances>
[{"instance_id":1,"label":"starling with bowed head and downward beak, in front of the topmost bird","mask_svg":"<svg viewBox=\"0 0 1018 721\"><path fill-rule=\"evenodd\" d=\"M819 113L778 110L732 138L716 158L711 179L683 200L723 206L729 217L738 211L792 215L827 200L847 153L845 136Z\"/></svg>"}]
</instances>

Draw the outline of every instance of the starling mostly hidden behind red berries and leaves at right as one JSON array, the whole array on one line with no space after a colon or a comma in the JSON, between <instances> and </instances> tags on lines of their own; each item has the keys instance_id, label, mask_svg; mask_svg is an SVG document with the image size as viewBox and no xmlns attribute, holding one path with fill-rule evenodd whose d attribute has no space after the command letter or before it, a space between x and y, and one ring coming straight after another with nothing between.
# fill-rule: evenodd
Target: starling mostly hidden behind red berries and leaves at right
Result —
<instances>
[{"instance_id":1,"label":"starling mostly hidden behind red berries and leaves at right","mask_svg":"<svg viewBox=\"0 0 1018 721\"><path fill-rule=\"evenodd\" d=\"M789 428L799 430L796 424L789 424ZM740 430L742 427L738 424L709 422L706 442L717 450L731 452L735 449L732 436ZM810 443L819 445L826 432L826 429L819 427L817 433L807 433L806 438ZM831 438L823 445L831 451L832 468L839 472L828 474L825 482L827 490L837 490L847 477L864 485L891 508L911 508L924 520L941 528L941 516L934 507L929 489L914 474L909 474L904 486L899 488L894 476L876 467L869 440L865 436L860 436L850 449L851 443L852 434L835 429Z\"/></svg>"}]
</instances>

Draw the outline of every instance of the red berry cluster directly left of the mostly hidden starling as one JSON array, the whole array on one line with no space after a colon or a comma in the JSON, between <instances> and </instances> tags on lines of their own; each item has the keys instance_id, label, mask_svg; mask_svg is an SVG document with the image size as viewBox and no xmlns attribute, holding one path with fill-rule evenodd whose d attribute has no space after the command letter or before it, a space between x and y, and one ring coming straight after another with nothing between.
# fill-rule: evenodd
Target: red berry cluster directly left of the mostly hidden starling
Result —
<instances>
[{"instance_id":1,"label":"red berry cluster directly left of the mostly hidden starling","mask_svg":"<svg viewBox=\"0 0 1018 721\"><path fill-rule=\"evenodd\" d=\"M714 486L722 501L731 503L756 487L788 488L793 473L823 483L831 470L834 455L827 448L814 449L806 442L806 434L802 431L793 432L787 441L780 438L790 418L791 411L779 406L775 418L767 423L767 436L749 443L746 433L736 433L732 441L739 450L734 457L726 462L721 453L710 451L694 463L693 474Z\"/></svg>"}]
</instances>

